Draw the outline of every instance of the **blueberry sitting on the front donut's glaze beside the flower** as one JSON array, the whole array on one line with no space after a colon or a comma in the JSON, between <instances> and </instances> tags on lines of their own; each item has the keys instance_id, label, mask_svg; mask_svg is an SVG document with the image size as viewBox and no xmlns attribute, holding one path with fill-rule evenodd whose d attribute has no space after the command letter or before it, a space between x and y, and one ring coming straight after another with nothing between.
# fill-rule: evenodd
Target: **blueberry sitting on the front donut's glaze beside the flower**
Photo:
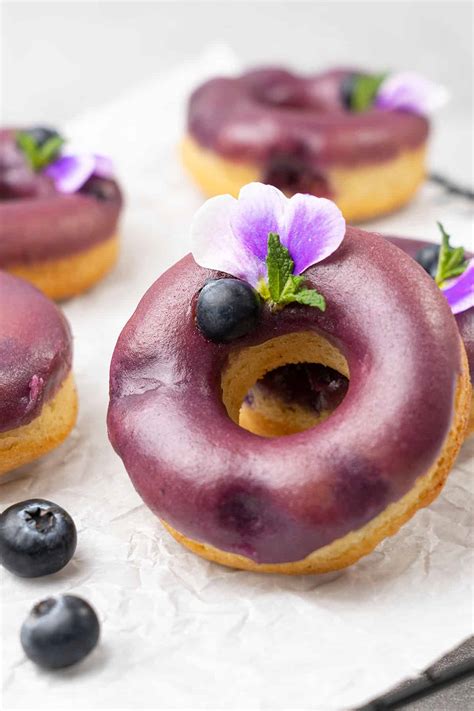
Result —
<instances>
[{"instance_id":1,"label":"blueberry sitting on the front donut's glaze beside the flower","mask_svg":"<svg viewBox=\"0 0 474 711\"><path fill-rule=\"evenodd\" d=\"M201 333L216 343L227 343L252 331L260 315L260 297L240 279L213 279L202 288L196 307Z\"/></svg>"}]
</instances>

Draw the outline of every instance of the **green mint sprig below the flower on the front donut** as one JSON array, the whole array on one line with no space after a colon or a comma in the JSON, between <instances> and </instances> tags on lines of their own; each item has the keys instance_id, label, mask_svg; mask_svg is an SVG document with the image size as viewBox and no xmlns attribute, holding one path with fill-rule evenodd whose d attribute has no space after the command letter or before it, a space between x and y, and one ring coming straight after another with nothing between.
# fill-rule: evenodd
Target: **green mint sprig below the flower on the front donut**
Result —
<instances>
[{"instance_id":1,"label":"green mint sprig below the flower on the front donut","mask_svg":"<svg viewBox=\"0 0 474 711\"><path fill-rule=\"evenodd\" d=\"M296 302L321 311L326 309L324 296L315 289L307 289L303 286L304 277L293 274L295 263L287 248L281 244L279 235L274 232L268 235L266 264L268 279L261 279L257 290L272 308L281 309Z\"/></svg>"}]
</instances>

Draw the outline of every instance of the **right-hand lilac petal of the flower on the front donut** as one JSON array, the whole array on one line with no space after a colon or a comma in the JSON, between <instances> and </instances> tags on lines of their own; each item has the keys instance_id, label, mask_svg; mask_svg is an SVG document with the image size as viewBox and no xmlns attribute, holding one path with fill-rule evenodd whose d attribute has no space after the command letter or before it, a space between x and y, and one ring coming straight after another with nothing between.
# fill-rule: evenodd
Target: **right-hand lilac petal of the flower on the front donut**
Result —
<instances>
[{"instance_id":1,"label":"right-hand lilac petal of the flower on the front donut","mask_svg":"<svg viewBox=\"0 0 474 711\"><path fill-rule=\"evenodd\" d=\"M295 263L295 274L336 251L346 233L346 222L339 208L326 198L293 195L288 201L281 235Z\"/></svg>"}]
</instances>

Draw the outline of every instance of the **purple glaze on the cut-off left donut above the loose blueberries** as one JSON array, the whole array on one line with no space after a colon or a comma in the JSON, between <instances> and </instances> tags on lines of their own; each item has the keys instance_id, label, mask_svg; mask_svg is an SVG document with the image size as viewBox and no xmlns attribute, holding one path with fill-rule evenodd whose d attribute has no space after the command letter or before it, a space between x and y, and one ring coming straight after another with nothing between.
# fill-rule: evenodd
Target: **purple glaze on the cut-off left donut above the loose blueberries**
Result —
<instances>
[{"instance_id":1,"label":"purple glaze on the cut-off left donut above the loose blueberries","mask_svg":"<svg viewBox=\"0 0 474 711\"><path fill-rule=\"evenodd\" d=\"M0 432L41 413L71 370L61 311L35 287L0 271Z\"/></svg>"}]
</instances>

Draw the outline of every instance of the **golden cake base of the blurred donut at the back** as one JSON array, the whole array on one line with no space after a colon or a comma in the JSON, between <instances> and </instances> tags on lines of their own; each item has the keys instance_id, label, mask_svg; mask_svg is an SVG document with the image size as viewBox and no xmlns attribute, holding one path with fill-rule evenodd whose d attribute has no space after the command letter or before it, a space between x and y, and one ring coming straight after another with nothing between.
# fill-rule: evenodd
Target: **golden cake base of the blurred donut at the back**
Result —
<instances>
[{"instance_id":1,"label":"golden cake base of the blurred donut at the back","mask_svg":"<svg viewBox=\"0 0 474 711\"><path fill-rule=\"evenodd\" d=\"M332 199L348 222L362 222L393 212L414 196L425 179L426 145L401 151L383 163L333 167L327 171ZM243 185L262 180L261 167L222 158L189 135L181 143L184 167L207 197L237 197Z\"/></svg>"}]
</instances>

